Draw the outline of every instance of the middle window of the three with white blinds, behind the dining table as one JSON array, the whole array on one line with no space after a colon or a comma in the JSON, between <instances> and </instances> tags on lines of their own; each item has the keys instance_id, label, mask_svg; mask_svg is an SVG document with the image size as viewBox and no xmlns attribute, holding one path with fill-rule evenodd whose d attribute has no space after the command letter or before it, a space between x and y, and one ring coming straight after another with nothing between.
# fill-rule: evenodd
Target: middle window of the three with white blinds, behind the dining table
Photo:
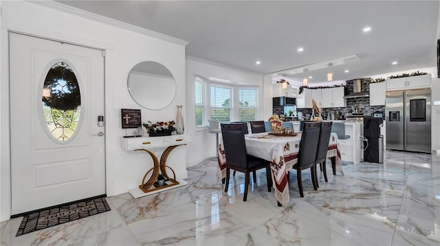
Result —
<instances>
[{"instance_id":1,"label":"middle window of the three with white blinds, behind the dining table","mask_svg":"<svg viewBox=\"0 0 440 246\"><path fill-rule=\"evenodd\" d=\"M218 122L231 121L232 87L211 84L211 119Z\"/></svg>"}]
</instances>

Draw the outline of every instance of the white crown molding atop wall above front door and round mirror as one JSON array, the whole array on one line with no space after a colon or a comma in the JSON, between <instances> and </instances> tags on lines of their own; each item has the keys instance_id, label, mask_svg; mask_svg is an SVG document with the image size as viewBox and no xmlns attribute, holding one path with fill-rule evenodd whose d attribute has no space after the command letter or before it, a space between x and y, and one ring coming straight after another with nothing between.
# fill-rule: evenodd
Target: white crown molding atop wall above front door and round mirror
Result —
<instances>
[{"instance_id":1,"label":"white crown molding atop wall above front door and round mirror","mask_svg":"<svg viewBox=\"0 0 440 246\"><path fill-rule=\"evenodd\" d=\"M112 25L113 27L119 27L122 29L126 29L132 32L137 32L138 34L144 34L146 36L151 36L153 38L158 38L160 40L164 40L167 42L172 42L175 43L176 45L183 45L186 46L189 44L188 41L186 40L181 40L179 38L174 38L172 36L168 36L165 34L161 34L159 32L154 32L142 27L137 27L135 25L131 25L129 23L124 23L122 21L117 21L115 19L111 19L109 17L105 17L105 16L101 16L99 14L94 14L91 12L87 12L85 10L80 10L78 8L74 8L72 6L69 5L64 5L63 3L58 3L52 0L43 0L43 1L32 1L32 0L28 0L31 3L36 3L39 5L43 5L47 8L52 8L54 10L60 10L62 12L66 12L69 14L74 14L76 16L81 16L85 19L89 19L91 21L98 21L100 23L104 23L107 25Z\"/></svg>"}]
</instances>

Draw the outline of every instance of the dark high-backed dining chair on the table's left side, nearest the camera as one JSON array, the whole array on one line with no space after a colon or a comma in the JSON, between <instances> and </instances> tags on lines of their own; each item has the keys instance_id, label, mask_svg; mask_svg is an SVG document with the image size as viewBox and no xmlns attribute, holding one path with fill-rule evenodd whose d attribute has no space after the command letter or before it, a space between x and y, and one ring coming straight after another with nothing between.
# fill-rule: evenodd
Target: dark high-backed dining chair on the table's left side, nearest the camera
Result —
<instances>
[{"instance_id":1,"label":"dark high-backed dining chair on the table's left side, nearest the camera","mask_svg":"<svg viewBox=\"0 0 440 246\"><path fill-rule=\"evenodd\" d=\"M248 155L246 151L245 136L242 123L221 124L221 135L226 158L225 192L228 192L230 169L245 173L245 191L243 201L248 198L250 173L259 169L266 169L267 191L272 188L272 171L270 162L255 156ZM255 177L255 176L254 176Z\"/></svg>"}]
</instances>

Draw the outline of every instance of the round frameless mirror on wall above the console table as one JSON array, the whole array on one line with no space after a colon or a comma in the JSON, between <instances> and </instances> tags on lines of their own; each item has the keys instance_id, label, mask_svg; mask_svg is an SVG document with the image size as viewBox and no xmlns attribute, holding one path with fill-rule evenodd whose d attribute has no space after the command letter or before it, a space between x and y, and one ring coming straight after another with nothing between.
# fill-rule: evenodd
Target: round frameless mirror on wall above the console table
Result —
<instances>
[{"instance_id":1,"label":"round frameless mirror on wall above the console table","mask_svg":"<svg viewBox=\"0 0 440 246\"><path fill-rule=\"evenodd\" d=\"M136 103L149 110L165 108L176 94L173 75L157 62L140 62L134 66L127 84Z\"/></svg>"}]
</instances>

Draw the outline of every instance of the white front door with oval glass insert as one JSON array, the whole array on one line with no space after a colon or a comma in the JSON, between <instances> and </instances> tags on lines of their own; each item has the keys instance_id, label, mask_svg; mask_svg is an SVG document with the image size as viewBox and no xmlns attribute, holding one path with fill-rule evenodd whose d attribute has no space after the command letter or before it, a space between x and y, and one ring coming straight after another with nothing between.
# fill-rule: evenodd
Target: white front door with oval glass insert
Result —
<instances>
[{"instance_id":1,"label":"white front door with oval glass insert","mask_svg":"<svg viewBox=\"0 0 440 246\"><path fill-rule=\"evenodd\" d=\"M102 51L9 35L12 214L105 194Z\"/></svg>"}]
</instances>

